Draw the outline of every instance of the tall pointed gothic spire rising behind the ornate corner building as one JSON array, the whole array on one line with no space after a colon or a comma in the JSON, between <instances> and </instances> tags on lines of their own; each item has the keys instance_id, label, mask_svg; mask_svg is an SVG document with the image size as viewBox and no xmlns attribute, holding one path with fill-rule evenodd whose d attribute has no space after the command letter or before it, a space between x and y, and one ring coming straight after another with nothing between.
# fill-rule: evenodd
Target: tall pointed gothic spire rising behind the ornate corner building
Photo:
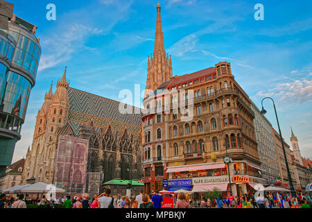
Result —
<instances>
[{"instance_id":1,"label":"tall pointed gothic spire rising behind the ornate corner building","mask_svg":"<svg viewBox=\"0 0 312 222\"><path fill-rule=\"evenodd\" d=\"M146 79L146 90L155 91L157 87L172 78L172 62L171 56L168 56L164 49L164 33L162 32L162 18L160 16L160 6L158 3L155 46L154 52L148 56L148 75ZM144 97L150 92L145 92Z\"/></svg>"}]
</instances>

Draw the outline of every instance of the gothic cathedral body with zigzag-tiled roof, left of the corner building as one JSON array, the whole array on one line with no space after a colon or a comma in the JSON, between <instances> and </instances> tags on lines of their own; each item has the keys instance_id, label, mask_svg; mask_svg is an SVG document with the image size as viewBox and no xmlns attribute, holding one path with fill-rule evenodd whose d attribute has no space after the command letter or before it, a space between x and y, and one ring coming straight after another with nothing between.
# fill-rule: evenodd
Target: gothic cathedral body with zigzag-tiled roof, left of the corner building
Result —
<instances>
[{"instance_id":1,"label":"gothic cathedral body with zigzag-tiled roof, left of the corner building","mask_svg":"<svg viewBox=\"0 0 312 222\"><path fill-rule=\"evenodd\" d=\"M60 136L88 142L83 192L97 194L103 182L116 178L139 179L141 114L122 114L120 104L69 87L65 69L55 93L51 83L37 113L32 148L28 148L26 154L23 183L31 178L35 182L67 185L64 179L54 181L58 178L55 177L55 158Z\"/></svg>"}]
</instances>

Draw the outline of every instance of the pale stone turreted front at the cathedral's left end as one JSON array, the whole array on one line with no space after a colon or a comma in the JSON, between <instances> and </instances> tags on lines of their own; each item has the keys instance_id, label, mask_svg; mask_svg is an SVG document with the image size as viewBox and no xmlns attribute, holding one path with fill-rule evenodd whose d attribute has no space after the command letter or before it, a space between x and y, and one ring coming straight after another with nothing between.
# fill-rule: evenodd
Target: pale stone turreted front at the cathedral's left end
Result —
<instances>
[{"instance_id":1,"label":"pale stone turreted front at the cathedral's left end","mask_svg":"<svg viewBox=\"0 0 312 222\"><path fill-rule=\"evenodd\" d=\"M52 83L44 96L44 104L37 113L32 150L26 154L23 182L35 178L36 182L53 182L53 168L56 150L56 131L67 122L69 109L66 68L61 80L58 80L55 94Z\"/></svg>"}]
</instances>

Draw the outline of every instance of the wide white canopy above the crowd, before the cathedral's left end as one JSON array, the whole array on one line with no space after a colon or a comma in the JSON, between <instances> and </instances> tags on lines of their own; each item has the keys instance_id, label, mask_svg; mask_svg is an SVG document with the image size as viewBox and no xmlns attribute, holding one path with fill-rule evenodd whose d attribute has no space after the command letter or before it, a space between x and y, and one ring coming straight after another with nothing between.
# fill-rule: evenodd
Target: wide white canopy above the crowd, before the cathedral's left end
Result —
<instances>
[{"instance_id":1,"label":"wide white canopy above the crowd, before the cathedral's left end","mask_svg":"<svg viewBox=\"0 0 312 222\"><path fill-rule=\"evenodd\" d=\"M36 182L32 185L28 185L27 187L21 187L15 190L15 193L21 194L45 194L48 192L55 192L55 193L64 193L64 189L60 189L55 187L54 185L47 185L44 182Z\"/></svg>"}]
</instances>

